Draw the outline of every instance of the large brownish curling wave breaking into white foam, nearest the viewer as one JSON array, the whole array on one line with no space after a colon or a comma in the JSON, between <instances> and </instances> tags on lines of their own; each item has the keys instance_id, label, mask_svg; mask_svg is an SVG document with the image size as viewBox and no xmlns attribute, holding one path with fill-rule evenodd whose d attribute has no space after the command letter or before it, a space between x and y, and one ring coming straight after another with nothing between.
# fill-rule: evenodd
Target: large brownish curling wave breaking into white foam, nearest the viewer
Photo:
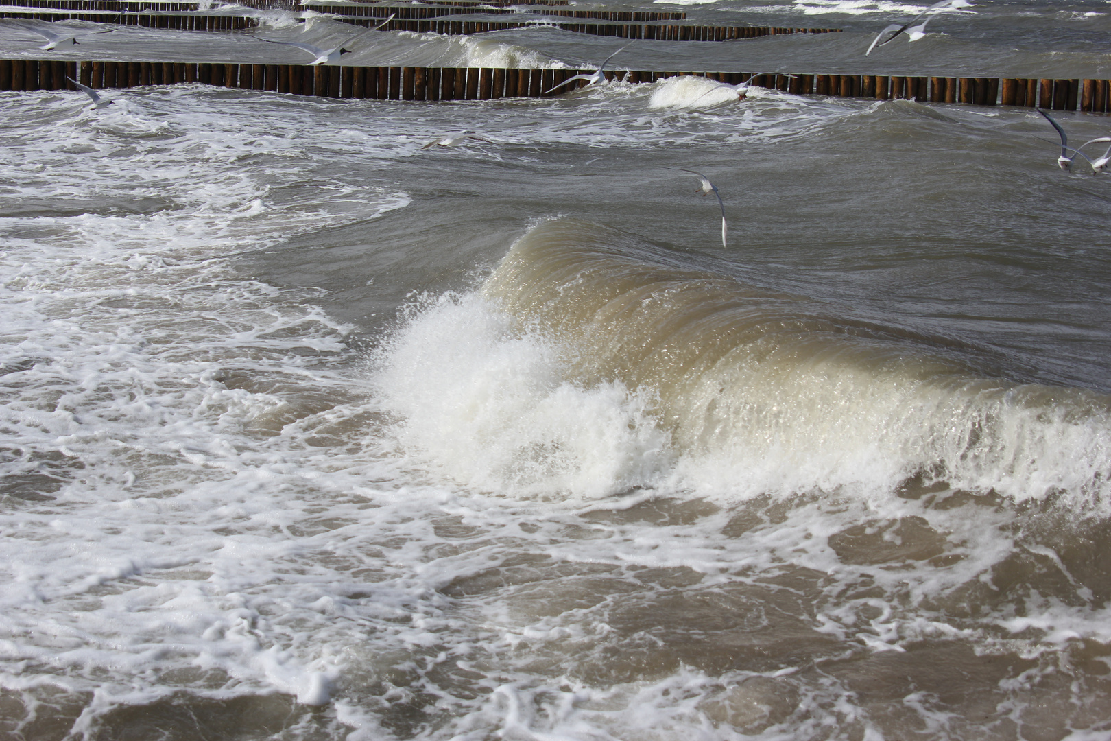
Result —
<instances>
[{"instance_id":1,"label":"large brownish curling wave breaking into white foam, nearest the viewer","mask_svg":"<svg viewBox=\"0 0 1111 741\"><path fill-rule=\"evenodd\" d=\"M559 220L478 296L417 311L382 389L409 443L483 488L873 495L919 477L1102 510L1111 399L1009 381L979 354Z\"/></svg>"}]
</instances>

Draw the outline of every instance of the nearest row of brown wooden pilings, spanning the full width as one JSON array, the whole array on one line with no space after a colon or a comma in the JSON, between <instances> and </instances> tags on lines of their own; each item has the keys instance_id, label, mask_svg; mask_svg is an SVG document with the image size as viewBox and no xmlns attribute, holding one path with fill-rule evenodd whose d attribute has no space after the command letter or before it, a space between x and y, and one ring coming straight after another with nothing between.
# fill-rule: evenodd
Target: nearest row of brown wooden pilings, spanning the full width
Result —
<instances>
[{"instance_id":1,"label":"nearest row of brown wooden pilings, spanning the full width","mask_svg":"<svg viewBox=\"0 0 1111 741\"><path fill-rule=\"evenodd\" d=\"M381 100L498 100L539 98L568 78L590 70L348 67L306 64L237 64L181 62L0 60L0 90L73 89L66 77L91 88L200 82L203 84L271 90L327 98ZM699 76L738 84L747 72L607 72L607 78L629 83L655 82L670 77ZM585 84L575 81L556 92ZM1040 107L1085 112L1111 111L1108 80L1009 78L884 77L871 74L760 74L755 87L793 94L818 94L877 100L910 99L921 102L972 106ZM1000 92L1002 91L1002 94ZM1073 92L1075 91L1075 92Z\"/></svg>"}]
</instances>

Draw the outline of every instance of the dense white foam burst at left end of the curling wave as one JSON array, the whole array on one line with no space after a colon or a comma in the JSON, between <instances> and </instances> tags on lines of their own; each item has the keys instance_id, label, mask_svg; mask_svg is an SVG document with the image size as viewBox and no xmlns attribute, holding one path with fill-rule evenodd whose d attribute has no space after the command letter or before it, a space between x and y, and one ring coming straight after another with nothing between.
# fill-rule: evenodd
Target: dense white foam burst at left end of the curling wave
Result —
<instances>
[{"instance_id":1,"label":"dense white foam burst at left end of the curling wave","mask_svg":"<svg viewBox=\"0 0 1111 741\"><path fill-rule=\"evenodd\" d=\"M605 497L667 467L650 399L579 388L565 359L478 297L443 297L390 346L378 389L408 453L469 488Z\"/></svg>"}]
</instances>

